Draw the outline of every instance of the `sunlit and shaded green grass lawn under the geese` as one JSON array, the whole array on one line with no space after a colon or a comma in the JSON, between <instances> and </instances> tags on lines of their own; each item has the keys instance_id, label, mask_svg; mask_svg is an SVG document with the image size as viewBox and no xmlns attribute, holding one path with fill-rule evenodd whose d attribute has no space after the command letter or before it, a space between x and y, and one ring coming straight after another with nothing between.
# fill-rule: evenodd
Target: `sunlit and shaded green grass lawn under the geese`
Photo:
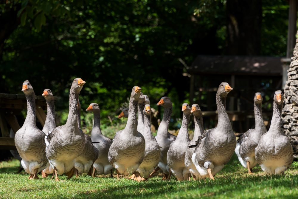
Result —
<instances>
[{"instance_id":1,"label":"sunlit and shaded green grass lawn under the geese","mask_svg":"<svg viewBox=\"0 0 298 199\"><path fill-rule=\"evenodd\" d=\"M0 163L0 198L298 198L298 163L284 176L266 176L260 167L246 174L234 155L215 176L215 181L162 181L154 177L145 182L128 179L80 176L63 181L27 180L28 174L15 174L19 162ZM39 175L39 177L41 177Z\"/></svg>"}]
</instances>

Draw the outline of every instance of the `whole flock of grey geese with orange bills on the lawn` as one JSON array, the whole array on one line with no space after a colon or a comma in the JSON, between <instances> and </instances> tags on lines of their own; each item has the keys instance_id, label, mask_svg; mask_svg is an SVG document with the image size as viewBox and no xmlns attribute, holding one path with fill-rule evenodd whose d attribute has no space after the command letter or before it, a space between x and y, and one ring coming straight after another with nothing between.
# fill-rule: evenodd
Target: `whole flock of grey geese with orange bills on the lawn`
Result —
<instances>
[{"instance_id":1,"label":"whole flock of grey geese with orange bills on the lawn","mask_svg":"<svg viewBox=\"0 0 298 199\"><path fill-rule=\"evenodd\" d=\"M236 141L229 117L226 113L226 97L233 90L228 83L221 83L216 93L218 124L204 130L202 111L198 104L182 104L182 124L176 136L168 132L172 102L162 97L158 106L164 107L162 121L156 137L151 133L151 107L147 95L140 87L131 90L129 107L123 109L118 118L127 117L124 129L116 132L114 139L105 137L100 129L100 107L91 103L86 109L93 112L94 122L91 136L80 129L79 93L86 82L75 78L69 92L69 115L66 124L56 127L55 106L51 90L45 89L47 103L45 125L38 129L35 123L35 94L28 80L22 91L27 98L27 117L24 125L15 134L15 146L28 179L48 175L59 181L58 175L88 173L113 175L113 167L119 175L131 175L136 181L148 180L162 169L164 180L171 173L178 181L211 178L229 162L234 151L243 167L252 172L259 164L269 175L283 174L293 162L293 148L289 138L281 131L281 111L284 96L274 93L273 117L270 129L266 130L262 117L262 96L254 96L255 128L243 133ZM194 139L188 136L190 114L194 117ZM138 119L137 119L138 114Z\"/></svg>"}]
</instances>

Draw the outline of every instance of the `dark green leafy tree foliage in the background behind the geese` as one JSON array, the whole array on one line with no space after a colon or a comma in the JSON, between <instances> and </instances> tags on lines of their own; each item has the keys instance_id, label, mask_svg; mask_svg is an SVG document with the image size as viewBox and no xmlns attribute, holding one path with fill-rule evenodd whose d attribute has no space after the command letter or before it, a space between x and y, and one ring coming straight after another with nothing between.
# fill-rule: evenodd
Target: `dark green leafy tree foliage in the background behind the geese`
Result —
<instances>
[{"instance_id":1,"label":"dark green leafy tree foliage in the background behind the geese","mask_svg":"<svg viewBox=\"0 0 298 199\"><path fill-rule=\"evenodd\" d=\"M189 101L181 60L191 65L198 54L220 55L226 48L225 0L19 0L0 8L2 14L16 10L20 20L3 44L0 92L22 94L26 79L36 95L51 89L59 97L57 124L66 121L70 84L81 77L82 109L98 103L103 125L118 124L120 107L138 85L159 118L163 109L156 103L171 98L170 128L176 129L181 104ZM287 9L285 1L263 1L262 55L285 55Z\"/></svg>"}]
</instances>

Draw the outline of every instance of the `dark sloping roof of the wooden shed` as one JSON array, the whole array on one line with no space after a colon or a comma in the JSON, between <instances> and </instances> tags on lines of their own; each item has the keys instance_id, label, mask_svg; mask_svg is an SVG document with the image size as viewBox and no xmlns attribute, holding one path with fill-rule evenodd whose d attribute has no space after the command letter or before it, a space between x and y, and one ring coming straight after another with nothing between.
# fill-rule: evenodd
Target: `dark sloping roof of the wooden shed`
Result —
<instances>
[{"instance_id":1,"label":"dark sloping roof of the wooden shed","mask_svg":"<svg viewBox=\"0 0 298 199\"><path fill-rule=\"evenodd\" d=\"M281 57L199 55L190 74L282 76Z\"/></svg>"}]
</instances>

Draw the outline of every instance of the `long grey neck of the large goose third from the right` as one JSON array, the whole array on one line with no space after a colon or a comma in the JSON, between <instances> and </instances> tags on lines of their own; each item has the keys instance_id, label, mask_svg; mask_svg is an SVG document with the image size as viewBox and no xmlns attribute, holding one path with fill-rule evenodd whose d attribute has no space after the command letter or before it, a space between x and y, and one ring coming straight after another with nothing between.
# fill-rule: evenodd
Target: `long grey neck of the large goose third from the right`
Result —
<instances>
[{"instance_id":1,"label":"long grey neck of the large goose third from the right","mask_svg":"<svg viewBox=\"0 0 298 199\"><path fill-rule=\"evenodd\" d=\"M216 106L218 111L218 124L217 127L221 129L226 129L226 127L231 127L231 122L229 116L226 113L226 95L221 96L220 93L216 93Z\"/></svg>"}]
</instances>

